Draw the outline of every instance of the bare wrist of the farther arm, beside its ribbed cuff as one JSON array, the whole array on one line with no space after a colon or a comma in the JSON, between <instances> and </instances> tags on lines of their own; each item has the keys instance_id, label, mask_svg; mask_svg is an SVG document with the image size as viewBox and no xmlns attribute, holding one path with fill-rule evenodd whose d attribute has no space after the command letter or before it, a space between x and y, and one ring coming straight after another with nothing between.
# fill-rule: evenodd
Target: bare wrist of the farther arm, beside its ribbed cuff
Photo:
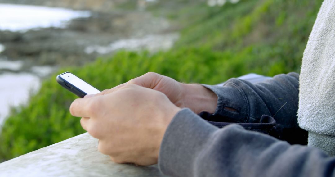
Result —
<instances>
[{"instance_id":1,"label":"bare wrist of the farther arm, beside its ribbed cuff","mask_svg":"<svg viewBox=\"0 0 335 177\"><path fill-rule=\"evenodd\" d=\"M200 84L182 84L183 105L190 108L194 113L203 111L213 114L217 107L217 96L208 88Z\"/></svg>"}]
</instances>

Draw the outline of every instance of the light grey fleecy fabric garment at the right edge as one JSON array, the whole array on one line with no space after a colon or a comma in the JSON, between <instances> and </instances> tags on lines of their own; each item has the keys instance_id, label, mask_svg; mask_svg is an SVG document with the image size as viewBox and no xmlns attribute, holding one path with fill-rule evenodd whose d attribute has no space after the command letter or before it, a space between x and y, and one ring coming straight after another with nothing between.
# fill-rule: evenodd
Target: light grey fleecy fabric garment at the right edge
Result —
<instances>
[{"instance_id":1,"label":"light grey fleecy fabric garment at the right edge","mask_svg":"<svg viewBox=\"0 0 335 177\"><path fill-rule=\"evenodd\" d=\"M335 138L324 139L326 136L323 136L335 136L334 0L325 0L321 6L304 52L299 80L299 126L313 134L309 138L313 144L309 145L317 146L335 156Z\"/></svg>"}]
</instances>

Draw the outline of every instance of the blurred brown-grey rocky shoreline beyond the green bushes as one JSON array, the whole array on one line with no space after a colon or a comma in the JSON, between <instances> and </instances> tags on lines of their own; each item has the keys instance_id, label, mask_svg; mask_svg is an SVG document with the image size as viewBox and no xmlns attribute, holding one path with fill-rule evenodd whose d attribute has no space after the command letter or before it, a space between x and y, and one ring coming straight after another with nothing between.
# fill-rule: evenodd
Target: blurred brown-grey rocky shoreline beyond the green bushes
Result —
<instances>
[{"instance_id":1,"label":"blurred brown-grey rocky shoreline beyond the green bushes","mask_svg":"<svg viewBox=\"0 0 335 177\"><path fill-rule=\"evenodd\" d=\"M41 28L24 33L0 31L0 44L4 46L1 56L35 65L80 66L101 55L85 52L89 46L171 34L172 29L167 20L146 12L92 13L91 17L71 20L66 28Z\"/></svg>"}]
</instances>

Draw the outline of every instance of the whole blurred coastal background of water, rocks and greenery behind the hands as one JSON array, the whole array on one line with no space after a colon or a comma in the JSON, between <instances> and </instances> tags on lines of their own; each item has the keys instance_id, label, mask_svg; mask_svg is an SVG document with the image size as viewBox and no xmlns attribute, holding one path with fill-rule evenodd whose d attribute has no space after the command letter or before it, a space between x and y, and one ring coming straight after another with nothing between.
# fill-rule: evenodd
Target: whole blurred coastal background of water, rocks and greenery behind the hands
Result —
<instances>
[{"instance_id":1,"label":"whole blurred coastal background of water, rocks and greenery behind the hands","mask_svg":"<svg viewBox=\"0 0 335 177\"><path fill-rule=\"evenodd\" d=\"M0 162L81 134L70 71L216 84L299 72L323 0L0 0Z\"/></svg>"}]
</instances>

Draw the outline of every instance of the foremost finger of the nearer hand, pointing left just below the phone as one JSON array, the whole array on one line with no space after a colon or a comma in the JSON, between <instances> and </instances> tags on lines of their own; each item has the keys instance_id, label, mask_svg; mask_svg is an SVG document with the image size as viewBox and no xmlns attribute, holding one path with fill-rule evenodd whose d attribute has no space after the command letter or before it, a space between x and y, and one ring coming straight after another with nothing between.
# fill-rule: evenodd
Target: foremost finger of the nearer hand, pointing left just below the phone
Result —
<instances>
[{"instance_id":1,"label":"foremost finger of the nearer hand, pointing left just below the phone","mask_svg":"<svg viewBox=\"0 0 335 177\"><path fill-rule=\"evenodd\" d=\"M94 98L78 98L70 106L70 113L75 117L92 117Z\"/></svg>"}]
</instances>

